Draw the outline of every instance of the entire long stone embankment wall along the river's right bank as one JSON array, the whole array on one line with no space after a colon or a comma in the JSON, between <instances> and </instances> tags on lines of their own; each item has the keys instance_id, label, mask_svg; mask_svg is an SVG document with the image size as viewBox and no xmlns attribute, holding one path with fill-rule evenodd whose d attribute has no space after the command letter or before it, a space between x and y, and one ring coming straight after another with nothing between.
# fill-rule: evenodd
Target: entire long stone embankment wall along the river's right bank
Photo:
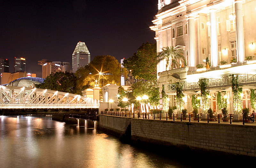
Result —
<instances>
[{"instance_id":1,"label":"entire long stone embankment wall along the river's right bank","mask_svg":"<svg viewBox=\"0 0 256 168\"><path fill-rule=\"evenodd\" d=\"M131 121L133 143L150 143L197 151L256 156L256 126L189 123L100 115L99 126L108 132L125 132Z\"/></svg>"}]
</instances>

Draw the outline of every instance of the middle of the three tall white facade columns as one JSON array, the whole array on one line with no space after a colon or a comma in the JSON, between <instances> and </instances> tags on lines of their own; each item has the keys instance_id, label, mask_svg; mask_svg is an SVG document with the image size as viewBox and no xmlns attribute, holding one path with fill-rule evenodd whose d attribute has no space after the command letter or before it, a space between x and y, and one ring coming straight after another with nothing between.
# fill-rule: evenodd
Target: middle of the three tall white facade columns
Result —
<instances>
[{"instance_id":1,"label":"middle of the three tall white facade columns","mask_svg":"<svg viewBox=\"0 0 256 168\"><path fill-rule=\"evenodd\" d=\"M210 23L211 23L211 26L210 26L211 63L212 63L212 67L216 67L219 64L216 9L210 9Z\"/></svg>"}]
</instances>

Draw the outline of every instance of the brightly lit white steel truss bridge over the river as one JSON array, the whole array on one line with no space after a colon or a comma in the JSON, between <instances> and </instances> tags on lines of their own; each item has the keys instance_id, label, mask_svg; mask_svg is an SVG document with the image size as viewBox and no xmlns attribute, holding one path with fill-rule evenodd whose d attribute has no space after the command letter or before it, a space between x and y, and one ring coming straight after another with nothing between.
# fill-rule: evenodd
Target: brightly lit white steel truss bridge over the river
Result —
<instances>
[{"instance_id":1,"label":"brightly lit white steel truss bridge over the river","mask_svg":"<svg viewBox=\"0 0 256 168\"><path fill-rule=\"evenodd\" d=\"M99 100L76 94L29 87L0 86L2 115L84 114L98 111L98 108Z\"/></svg>"}]
</instances>

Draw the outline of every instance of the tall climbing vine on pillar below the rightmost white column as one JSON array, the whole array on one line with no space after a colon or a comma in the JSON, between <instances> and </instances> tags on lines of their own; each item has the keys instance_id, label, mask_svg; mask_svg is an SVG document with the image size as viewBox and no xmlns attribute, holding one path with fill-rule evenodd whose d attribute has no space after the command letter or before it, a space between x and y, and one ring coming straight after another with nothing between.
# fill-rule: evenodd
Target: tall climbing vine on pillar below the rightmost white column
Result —
<instances>
[{"instance_id":1,"label":"tall climbing vine on pillar below the rightmost white column","mask_svg":"<svg viewBox=\"0 0 256 168\"><path fill-rule=\"evenodd\" d=\"M238 114L242 112L242 96L243 87L238 85L238 74L230 75L232 92L233 92L233 107L234 107L234 114Z\"/></svg>"}]
</instances>

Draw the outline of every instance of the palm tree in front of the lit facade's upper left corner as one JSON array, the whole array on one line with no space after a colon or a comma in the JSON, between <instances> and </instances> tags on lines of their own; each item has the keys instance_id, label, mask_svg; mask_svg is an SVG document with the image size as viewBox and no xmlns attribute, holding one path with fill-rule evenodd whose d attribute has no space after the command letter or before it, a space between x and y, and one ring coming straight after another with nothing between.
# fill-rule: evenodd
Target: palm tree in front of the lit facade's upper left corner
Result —
<instances>
[{"instance_id":1,"label":"palm tree in front of the lit facade's upper left corner","mask_svg":"<svg viewBox=\"0 0 256 168\"><path fill-rule=\"evenodd\" d=\"M171 48L169 47L163 47L163 51L158 52L157 54L157 63L161 62L162 60L166 60L166 70L170 70L173 68L174 65L179 67L178 64L178 59L182 61L184 66L187 65L186 59L183 56L183 51L181 49L174 49L172 46Z\"/></svg>"}]
</instances>

